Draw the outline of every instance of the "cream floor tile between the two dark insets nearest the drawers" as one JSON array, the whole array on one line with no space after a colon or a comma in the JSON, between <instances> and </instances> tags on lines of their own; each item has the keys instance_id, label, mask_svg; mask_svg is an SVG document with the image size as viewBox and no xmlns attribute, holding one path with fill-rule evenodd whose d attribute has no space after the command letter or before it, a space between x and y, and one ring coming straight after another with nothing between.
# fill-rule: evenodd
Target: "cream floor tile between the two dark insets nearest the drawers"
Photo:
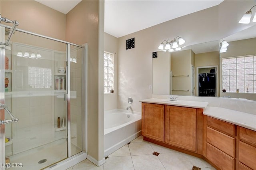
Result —
<instances>
[{"instance_id":1,"label":"cream floor tile between the two dark insets nearest the drawers","mask_svg":"<svg viewBox=\"0 0 256 170\"><path fill-rule=\"evenodd\" d=\"M178 152L159 154L158 158L166 170L192 170L193 165Z\"/></svg>"}]
</instances>

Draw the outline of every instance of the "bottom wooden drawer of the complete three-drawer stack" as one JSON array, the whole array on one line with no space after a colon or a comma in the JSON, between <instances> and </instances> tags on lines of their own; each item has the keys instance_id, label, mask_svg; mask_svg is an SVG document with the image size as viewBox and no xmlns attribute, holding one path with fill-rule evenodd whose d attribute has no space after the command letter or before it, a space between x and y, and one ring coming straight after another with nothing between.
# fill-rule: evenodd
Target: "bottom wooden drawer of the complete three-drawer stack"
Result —
<instances>
[{"instance_id":1,"label":"bottom wooden drawer of the complete three-drawer stack","mask_svg":"<svg viewBox=\"0 0 256 170\"><path fill-rule=\"evenodd\" d=\"M235 159L211 144L206 144L206 158L221 170L234 170Z\"/></svg>"}]
</instances>

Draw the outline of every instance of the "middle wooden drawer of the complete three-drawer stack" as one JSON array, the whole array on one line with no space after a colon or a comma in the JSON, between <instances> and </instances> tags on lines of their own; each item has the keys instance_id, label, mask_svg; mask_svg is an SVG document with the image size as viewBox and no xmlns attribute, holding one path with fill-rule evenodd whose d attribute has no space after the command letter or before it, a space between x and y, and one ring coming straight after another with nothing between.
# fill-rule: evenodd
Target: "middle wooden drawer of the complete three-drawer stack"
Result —
<instances>
[{"instance_id":1,"label":"middle wooden drawer of the complete three-drawer stack","mask_svg":"<svg viewBox=\"0 0 256 170\"><path fill-rule=\"evenodd\" d=\"M235 138L207 127L206 141L229 156L235 157Z\"/></svg>"}]
</instances>

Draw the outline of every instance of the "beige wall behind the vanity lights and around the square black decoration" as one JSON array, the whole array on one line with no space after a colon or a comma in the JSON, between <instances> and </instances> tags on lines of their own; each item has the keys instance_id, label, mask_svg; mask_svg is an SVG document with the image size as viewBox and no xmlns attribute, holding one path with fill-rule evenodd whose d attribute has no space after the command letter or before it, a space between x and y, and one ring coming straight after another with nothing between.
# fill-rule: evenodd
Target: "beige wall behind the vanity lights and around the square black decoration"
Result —
<instances>
[{"instance_id":1,"label":"beige wall behind the vanity lights and around the square black decoration","mask_svg":"<svg viewBox=\"0 0 256 170\"><path fill-rule=\"evenodd\" d=\"M139 100L151 98L148 87L152 84L152 52L158 51L163 40L182 36L186 40L184 45L220 40L252 26L237 20L253 5L253 1L223 1L218 6L118 38L118 108L126 107L127 98L132 97L133 109L141 111ZM135 48L126 50L126 40L130 38L135 38Z\"/></svg>"}]
</instances>

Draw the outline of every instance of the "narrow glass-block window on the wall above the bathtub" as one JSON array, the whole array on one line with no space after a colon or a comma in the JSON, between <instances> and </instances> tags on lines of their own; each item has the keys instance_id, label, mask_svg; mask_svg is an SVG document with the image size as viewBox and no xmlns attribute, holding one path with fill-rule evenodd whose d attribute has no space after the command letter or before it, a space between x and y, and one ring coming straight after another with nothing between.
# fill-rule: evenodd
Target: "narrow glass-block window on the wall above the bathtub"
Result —
<instances>
[{"instance_id":1,"label":"narrow glass-block window on the wall above the bathtub","mask_svg":"<svg viewBox=\"0 0 256 170\"><path fill-rule=\"evenodd\" d=\"M114 89L114 54L104 52L104 93Z\"/></svg>"}]
</instances>

